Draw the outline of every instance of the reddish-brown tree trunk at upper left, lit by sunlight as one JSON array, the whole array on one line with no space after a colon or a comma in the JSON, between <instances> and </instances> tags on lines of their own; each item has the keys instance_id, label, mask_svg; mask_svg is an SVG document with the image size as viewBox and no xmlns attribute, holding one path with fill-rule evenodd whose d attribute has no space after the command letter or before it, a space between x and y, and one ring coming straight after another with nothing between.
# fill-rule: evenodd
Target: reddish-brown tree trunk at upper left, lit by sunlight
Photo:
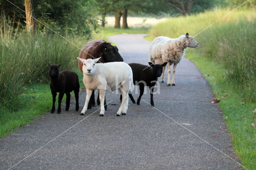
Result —
<instances>
[{"instance_id":1,"label":"reddish-brown tree trunk at upper left, lit by sunlight","mask_svg":"<svg viewBox=\"0 0 256 170\"><path fill-rule=\"evenodd\" d=\"M35 21L33 16L32 0L25 0L25 11L26 11L26 29L28 32L34 32Z\"/></svg>"}]
</instances>

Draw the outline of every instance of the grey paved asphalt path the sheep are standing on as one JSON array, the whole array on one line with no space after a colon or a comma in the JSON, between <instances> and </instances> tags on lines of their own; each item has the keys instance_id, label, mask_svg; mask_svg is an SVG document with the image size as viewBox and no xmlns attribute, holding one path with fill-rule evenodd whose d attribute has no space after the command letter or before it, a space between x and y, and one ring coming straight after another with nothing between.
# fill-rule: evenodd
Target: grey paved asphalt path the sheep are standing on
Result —
<instances>
[{"instance_id":1,"label":"grey paved asphalt path the sheep are standing on","mask_svg":"<svg viewBox=\"0 0 256 170\"><path fill-rule=\"evenodd\" d=\"M109 39L118 45L125 62L147 64L150 42L144 36ZM210 103L214 95L207 81L186 58L176 70L176 86L161 83L160 94L154 95L159 111L148 105L149 93L142 96L140 106L129 101L127 115L120 117L115 116L120 102L114 93L106 95L107 102L113 101L104 117L96 111L99 106L81 116L73 111L73 100L71 111L46 113L0 138L0 169L42 146L13 169L240 169L223 115L217 104ZM80 93L80 111L84 97L85 92Z\"/></svg>"}]
</instances>

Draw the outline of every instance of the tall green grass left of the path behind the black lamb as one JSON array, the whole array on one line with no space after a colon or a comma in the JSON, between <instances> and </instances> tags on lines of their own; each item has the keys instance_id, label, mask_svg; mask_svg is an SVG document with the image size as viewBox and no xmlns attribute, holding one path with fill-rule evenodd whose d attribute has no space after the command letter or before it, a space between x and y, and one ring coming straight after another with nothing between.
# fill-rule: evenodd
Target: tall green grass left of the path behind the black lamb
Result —
<instances>
[{"instance_id":1,"label":"tall green grass left of the path behind the black lamb","mask_svg":"<svg viewBox=\"0 0 256 170\"><path fill-rule=\"evenodd\" d=\"M0 106L17 99L24 87L48 81L48 62L71 69L80 51L57 34L17 32L12 22L0 19Z\"/></svg>"}]
</instances>

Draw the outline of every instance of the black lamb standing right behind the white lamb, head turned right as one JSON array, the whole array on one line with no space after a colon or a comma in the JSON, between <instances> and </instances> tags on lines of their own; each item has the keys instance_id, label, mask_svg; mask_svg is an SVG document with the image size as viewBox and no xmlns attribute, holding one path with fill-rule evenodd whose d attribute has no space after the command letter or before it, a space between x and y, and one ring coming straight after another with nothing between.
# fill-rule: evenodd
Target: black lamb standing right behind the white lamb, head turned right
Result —
<instances>
[{"instance_id":1,"label":"black lamb standing right behind the white lamb, head turned right","mask_svg":"<svg viewBox=\"0 0 256 170\"><path fill-rule=\"evenodd\" d=\"M128 64L132 68L134 85L140 86L140 96L137 100L137 105L140 105L140 99L144 93L144 86L148 86L150 89L150 104L154 106L154 101L153 101L154 86L156 85L156 81L158 77L162 75L163 67L166 66L167 63L163 63L161 65L160 64L154 65L153 63L148 62L148 64L151 67L148 67L147 65L142 65L139 63ZM129 93L129 97L132 103L136 103L134 98L132 97L132 94ZM120 100L122 101L122 95L120 96Z\"/></svg>"}]
</instances>

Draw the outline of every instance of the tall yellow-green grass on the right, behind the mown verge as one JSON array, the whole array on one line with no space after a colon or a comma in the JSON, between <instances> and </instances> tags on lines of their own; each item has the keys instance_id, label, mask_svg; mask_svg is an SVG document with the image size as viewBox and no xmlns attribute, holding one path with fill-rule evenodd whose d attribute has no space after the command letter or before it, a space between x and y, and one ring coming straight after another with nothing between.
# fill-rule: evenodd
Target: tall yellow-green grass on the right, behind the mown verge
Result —
<instances>
[{"instance_id":1,"label":"tall yellow-green grass on the right, behind the mown verge","mask_svg":"<svg viewBox=\"0 0 256 170\"><path fill-rule=\"evenodd\" d=\"M213 11L172 18L153 26L150 30L152 38L168 36L177 38L188 32L199 42L197 49L205 57L210 57L216 64L223 64L223 79L241 92L248 101L256 102L256 12L250 10L216 9ZM227 16L225 16L228 14ZM222 16L225 16L218 22ZM216 22L212 26L212 23ZM207 28L210 26L209 28ZM206 30L204 30L207 28ZM202 32L201 32L202 31ZM201 33L200 33L201 32Z\"/></svg>"}]
</instances>

